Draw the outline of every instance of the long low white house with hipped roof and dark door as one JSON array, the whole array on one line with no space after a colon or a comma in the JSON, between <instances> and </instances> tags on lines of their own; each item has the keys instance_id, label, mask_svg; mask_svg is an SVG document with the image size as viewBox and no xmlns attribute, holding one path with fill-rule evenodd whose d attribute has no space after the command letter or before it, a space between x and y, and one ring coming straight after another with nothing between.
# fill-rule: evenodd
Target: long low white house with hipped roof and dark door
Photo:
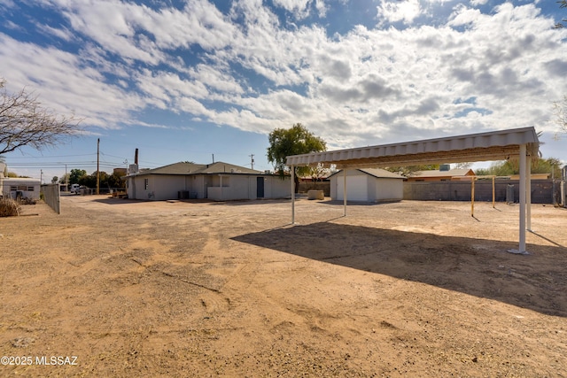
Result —
<instances>
[{"instance_id":1,"label":"long low white house with hipped roof and dark door","mask_svg":"<svg viewBox=\"0 0 567 378\"><path fill-rule=\"evenodd\" d=\"M135 199L227 201L291 196L289 177L282 180L275 174L223 162L206 165L180 162L141 171L132 166L126 177L128 198Z\"/></svg>"}]
</instances>

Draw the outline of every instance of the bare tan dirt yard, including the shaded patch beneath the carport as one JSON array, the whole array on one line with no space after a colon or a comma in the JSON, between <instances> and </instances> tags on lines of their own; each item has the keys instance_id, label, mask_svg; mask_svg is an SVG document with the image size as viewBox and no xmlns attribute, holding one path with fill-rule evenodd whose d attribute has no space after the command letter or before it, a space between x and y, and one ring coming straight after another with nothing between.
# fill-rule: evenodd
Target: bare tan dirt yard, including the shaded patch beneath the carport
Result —
<instances>
[{"instance_id":1,"label":"bare tan dirt yard, including the shaded patch beneath the carport","mask_svg":"<svg viewBox=\"0 0 567 378\"><path fill-rule=\"evenodd\" d=\"M564 377L567 209L532 205L529 255L518 212L28 205L0 219L0 375Z\"/></svg>"}]
</instances>

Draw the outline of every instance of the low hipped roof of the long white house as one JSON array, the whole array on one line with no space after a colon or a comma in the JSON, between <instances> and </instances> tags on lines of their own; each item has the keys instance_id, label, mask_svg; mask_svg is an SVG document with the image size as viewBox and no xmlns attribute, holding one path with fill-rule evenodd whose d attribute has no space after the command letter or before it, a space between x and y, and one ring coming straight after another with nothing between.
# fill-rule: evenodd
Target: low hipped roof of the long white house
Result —
<instances>
[{"instance_id":1,"label":"low hipped roof of the long white house","mask_svg":"<svg viewBox=\"0 0 567 378\"><path fill-rule=\"evenodd\" d=\"M179 162L168 166L160 166L159 168L140 171L131 176L141 176L144 174L263 174L245 166L235 166L234 164L218 161L213 164L195 164L188 162Z\"/></svg>"}]
</instances>

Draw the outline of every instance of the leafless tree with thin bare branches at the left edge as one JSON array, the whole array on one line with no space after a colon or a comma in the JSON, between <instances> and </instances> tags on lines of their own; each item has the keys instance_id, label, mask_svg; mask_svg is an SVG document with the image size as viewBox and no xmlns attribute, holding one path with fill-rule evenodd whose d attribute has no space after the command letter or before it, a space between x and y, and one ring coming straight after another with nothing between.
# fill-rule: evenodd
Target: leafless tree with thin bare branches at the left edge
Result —
<instances>
[{"instance_id":1,"label":"leafless tree with thin bare branches at the left edge","mask_svg":"<svg viewBox=\"0 0 567 378\"><path fill-rule=\"evenodd\" d=\"M0 156L24 146L41 150L77 134L81 120L54 114L26 89L10 94L5 82L0 78Z\"/></svg>"}]
</instances>

